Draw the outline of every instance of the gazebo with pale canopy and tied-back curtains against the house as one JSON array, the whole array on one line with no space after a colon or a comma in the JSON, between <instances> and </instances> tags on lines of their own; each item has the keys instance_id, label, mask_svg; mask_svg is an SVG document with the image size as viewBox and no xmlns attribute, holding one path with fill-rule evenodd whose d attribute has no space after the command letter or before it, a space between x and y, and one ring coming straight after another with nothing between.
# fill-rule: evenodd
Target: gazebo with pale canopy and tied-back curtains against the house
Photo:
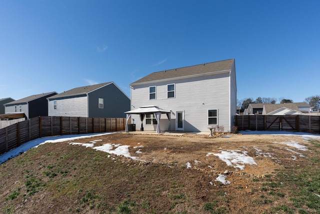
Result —
<instances>
[{"instance_id":1,"label":"gazebo with pale canopy and tied-back curtains against the house","mask_svg":"<svg viewBox=\"0 0 320 214\"><path fill-rule=\"evenodd\" d=\"M143 131L143 124L142 121L145 117L146 114L153 114L157 125L156 125L156 133L161 133L160 130L160 117L161 114L166 114L167 118L169 119L169 131L171 131L171 112L167 111L167 110L163 110L157 106L142 106L140 108L131 110L131 111L126 111L124 112L126 113L126 124L125 124L125 132L129 132L129 128L128 128L128 121L131 117L131 114L139 114L140 115L140 120L141 120L141 128L140 130Z\"/></svg>"}]
</instances>

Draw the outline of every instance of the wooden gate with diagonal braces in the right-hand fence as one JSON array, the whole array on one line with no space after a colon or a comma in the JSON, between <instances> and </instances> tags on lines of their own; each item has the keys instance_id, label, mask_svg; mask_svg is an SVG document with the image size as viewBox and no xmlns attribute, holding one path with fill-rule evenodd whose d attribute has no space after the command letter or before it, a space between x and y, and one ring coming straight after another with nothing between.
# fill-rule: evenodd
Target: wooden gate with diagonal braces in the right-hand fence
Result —
<instances>
[{"instance_id":1,"label":"wooden gate with diagonal braces in the right-hand fence","mask_svg":"<svg viewBox=\"0 0 320 214\"><path fill-rule=\"evenodd\" d=\"M296 131L296 116L268 116L265 120L266 131Z\"/></svg>"}]
</instances>

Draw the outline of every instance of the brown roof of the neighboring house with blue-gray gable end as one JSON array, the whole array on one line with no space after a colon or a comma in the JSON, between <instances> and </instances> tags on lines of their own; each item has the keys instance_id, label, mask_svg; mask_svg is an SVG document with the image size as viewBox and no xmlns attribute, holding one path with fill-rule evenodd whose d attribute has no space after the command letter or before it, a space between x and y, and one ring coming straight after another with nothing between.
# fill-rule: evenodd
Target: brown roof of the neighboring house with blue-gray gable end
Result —
<instances>
[{"instance_id":1,"label":"brown roof of the neighboring house with blue-gray gable end","mask_svg":"<svg viewBox=\"0 0 320 214\"><path fill-rule=\"evenodd\" d=\"M81 86L81 87L77 87L77 88L73 88L71 90L68 91L64 91L60 94L56 94L52 97L49 97L48 99L55 99L55 98L61 98L61 97L71 97L71 96L78 96L78 95L86 95L89 92L92 92L94 90L97 90L103 86L109 85L110 83L113 82L107 82L107 83L100 83L100 84L96 84L96 85L90 85L90 86Z\"/></svg>"}]
</instances>

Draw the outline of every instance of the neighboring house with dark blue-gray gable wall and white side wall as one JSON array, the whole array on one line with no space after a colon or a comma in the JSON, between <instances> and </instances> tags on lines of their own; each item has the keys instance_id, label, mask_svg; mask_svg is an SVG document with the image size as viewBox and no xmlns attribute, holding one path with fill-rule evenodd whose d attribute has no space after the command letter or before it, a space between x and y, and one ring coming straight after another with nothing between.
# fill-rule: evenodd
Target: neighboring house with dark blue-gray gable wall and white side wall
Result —
<instances>
[{"instance_id":1,"label":"neighboring house with dark blue-gray gable wall and white side wall","mask_svg":"<svg viewBox=\"0 0 320 214\"><path fill-rule=\"evenodd\" d=\"M130 98L113 82L74 88L47 98L48 116L125 118Z\"/></svg>"}]
</instances>

